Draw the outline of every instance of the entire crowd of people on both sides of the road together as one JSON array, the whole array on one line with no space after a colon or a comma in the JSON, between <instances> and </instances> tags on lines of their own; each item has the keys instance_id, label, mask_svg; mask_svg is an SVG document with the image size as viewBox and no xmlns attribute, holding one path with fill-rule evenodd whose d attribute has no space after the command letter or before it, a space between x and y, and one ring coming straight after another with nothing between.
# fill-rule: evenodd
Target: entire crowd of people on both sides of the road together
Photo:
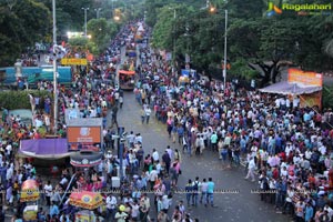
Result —
<instances>
[{"instance_id":1,"label":"entire crowd of people on both sides of the road together","mask_svg":"<svg viewBox=\"0 0 333 222\"><path fill-rule=\"evenodd\" d=\"M163 153L157 149L147 151L142 148L142 135L130 132L123 155L128 176L119 188L119 196L103 192L110 185L115 188L112 176L117 175L119 167L118 158L109 152L114 149L114 132L107 125L107 115L111 110L112 123L118 127L117 112L123 102L122 94L112 85L118 61L112 58L121 53L132 26L134 23L115 37L90 71L80 70L72 89L59 88L58 133L61 137L65 137L65 109L79 110L80 118L104 119L105 147L102 149L105 157L95 169L77 171L72 188L104 194L105 208L97 209L95 214L105 220L150 221L150 212L154 208L160 222L193 221L185 208L199 203L214 206L214 182L212 178L190 179L184 185L185 200L171 209L173 194L182 186L178 184L182 173L182 154L205 155L211 150L221 164L230 168L246 164L244 179L258 183L261 200L273 204L276 213L286 213L296 221L333 220L331 109L303 108L302 97L249 91L236 83L228 83L224 89L222 82L196 73L191 73L189 82L179 82L175 69L154 53L147 42L139 44L141 63L133 91L142 105L142 123L149 124L150 115L154 115L155 120L165 123L170 140L183 149L179 151L167 147ZM40 83L39 88L52 90L48 83ZM27 162L16 159L21 139L41 138L37 127L44 125L47 131L52 128L48 120L51 101L48 98L40 101L33 98L34 128L2 110L0 172L1 190L6 195L1 195L1 201L17 206L18 220L24 208L24 203L19 201L20 185L24 180L33 179L40 183L41 198L49 210L40 209L38 220L72 221L70 215L78 209L68 200L62 203L59 196L74 169L62 171L60 182L52 184L41 179L29 159ZM3 212L1 216L4 216Z\"/></svg>"}]
</instances>

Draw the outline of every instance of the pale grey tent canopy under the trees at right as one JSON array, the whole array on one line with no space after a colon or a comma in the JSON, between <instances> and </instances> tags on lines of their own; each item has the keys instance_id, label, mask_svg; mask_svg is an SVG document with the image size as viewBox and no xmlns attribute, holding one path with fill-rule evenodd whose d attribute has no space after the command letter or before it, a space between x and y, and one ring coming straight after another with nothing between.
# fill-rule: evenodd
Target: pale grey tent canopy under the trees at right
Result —
<instances>
[{"instance_id":1,"label":"pale grey tent canopy under the trees at right","mask_svg":"<svg viewBox=\"0 0 333 222\"><path fill-rule=\"evenodd\" d=\"M321 87L306 87L299 83L289 83L286 81L279 82L272 85L269 85L266 88L260 89L261 92L266 93L276 93L276 94L292 94L292 95L299 95L299 94L311 94L313 92L321 91Z\"/></svg>"}]
</instances>

